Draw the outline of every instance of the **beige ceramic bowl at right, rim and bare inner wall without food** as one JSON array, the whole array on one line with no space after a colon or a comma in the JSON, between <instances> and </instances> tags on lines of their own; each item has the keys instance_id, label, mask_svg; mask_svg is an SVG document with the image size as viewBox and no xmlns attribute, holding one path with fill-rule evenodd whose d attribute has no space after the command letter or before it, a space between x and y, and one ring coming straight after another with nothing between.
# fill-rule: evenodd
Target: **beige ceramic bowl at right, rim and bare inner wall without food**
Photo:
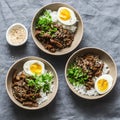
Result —
<instances>
[{"instance_id":1,"label":"beige ceramic bowl at right, rim and bare inner wall without food","mask_svg":"<svg viewBox=\"0 0 120 120\"><path fill-rule=\"evenodd\" d=\"M101 95L97 95L97 96L83 95L83 94L79 93L78 91L76 91L74 89L73 85L69 82L68 77L67 77L67 71L68 71L70 65L72 63L74 63L74 60L76 57L78 57L78 56L80 57L80 56L83 56L86 54L98 55L100 57L100 59L108 65L108 67L110 69L109 74L113 78L112 87L108 92L101 94ZM65 66L65 79L68 84L68 87L72 90L72 92L74 94L76 94L77 96L84 98L84 99L95 100L95 99L99 99L99 98L106 96L113 89L113 87L115 86L116 81L117 81L117 67L116 67L116 64L115 64L113 58L106 51L104 51L100 48L85 47L85 48L79 49L76 52L74 52L68 59L66 66Z\"/></svg>"}]
</instances>

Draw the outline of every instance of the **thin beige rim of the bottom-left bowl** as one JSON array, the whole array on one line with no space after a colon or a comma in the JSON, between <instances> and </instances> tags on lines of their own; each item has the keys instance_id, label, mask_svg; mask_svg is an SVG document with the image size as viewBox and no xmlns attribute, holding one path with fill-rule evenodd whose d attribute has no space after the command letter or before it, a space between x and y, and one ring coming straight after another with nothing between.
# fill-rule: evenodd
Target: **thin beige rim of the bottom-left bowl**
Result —
<instances>
[{"instance_id":1,"label":"thin beige rim of the bottom-left bowl","mask_svg":"<svg viewBox=\"0 0 120 120\"><path fill-rule=\"evenodd\" d=\"M8 76L9 76L10 71L12 70L12 68L14 67L14 65L16 65L18 62L20 62L20 61L22 61L22 60L25 60L25 59L28 59L28 58L40 59L40 60L46 62L46 63L53 69L53 71L54 71L54 73L55 73L55 75L56 75L56 81L57 81L57 82L56 82L56 86L55 86L55 87L56 87L56 91L53 91L53 92L54 92L54 96L52 97L51 100L49 100L49 102L48 102L47 104L45 104L45 105L42 106L42 107L40 107L40 106L39 106L39 107L27 107L27 106L19 105L19 104L17 104L17 102L19 102L19 101L17 101L16 99L13 100L13 97L14 97L14 96L11 96L11 94L10 94L10 92L9 92L9 90L8 90L7 81L8 81ZM7 92L8 96L9 96L9 98L10 98L11 101L12 101L13 103L15 103L18 107L20 107L20 108L22 108L22 109L26 109L26 110L38 110L38 109L42 109L42 108L48 106L48 105L54 100L54 98L56 97L57 91L58 91L58 87L59 87L58 74L57 74L55 68L53 67L53 65L52 65L50 62L48 62L47 60L45 60L45 59L43 59L43 58L41 58L41 57L27 56L27 57L23 57L23 58L21 58L21 59L18 59L16 62L14 62L14 63L10 66L10 68L8 69L6 78L5 78L5 87L6 87L6 92Z\"/></svg>"}]
</instances>

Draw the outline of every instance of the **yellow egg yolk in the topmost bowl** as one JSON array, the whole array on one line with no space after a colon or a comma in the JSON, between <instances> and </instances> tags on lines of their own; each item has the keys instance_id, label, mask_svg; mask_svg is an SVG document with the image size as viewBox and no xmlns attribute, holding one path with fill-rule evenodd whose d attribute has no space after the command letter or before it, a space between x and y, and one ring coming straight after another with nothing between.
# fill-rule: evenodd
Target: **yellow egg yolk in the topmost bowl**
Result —
<instances>
[{"instance_id":1,"label":"yellow egg yolk in the topmost bowl","mask_svg":"<svg viewBox=\"0 0 120 120\"><path fill-rule=\"evenodd\" d=\"M71 18L71 15L67 9L62 9L62 10L60 10L59 17L60 17L60 19L66 21L66 20L69 20Z\"/></svg>"}]
</instances>

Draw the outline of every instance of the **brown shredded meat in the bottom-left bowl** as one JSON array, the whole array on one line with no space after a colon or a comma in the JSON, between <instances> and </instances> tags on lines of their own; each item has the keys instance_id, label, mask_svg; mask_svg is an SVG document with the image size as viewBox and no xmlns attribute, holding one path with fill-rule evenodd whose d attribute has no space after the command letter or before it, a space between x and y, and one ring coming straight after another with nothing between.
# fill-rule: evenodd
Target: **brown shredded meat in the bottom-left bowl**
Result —
<instances>
[{"instance_id":1,"label":"brown shredded meat in the bottom-left bowl","mask_svg":"<svg viewBox=\"0 0 120 120\"><path fill-rule=\"evenodd\" d=\"M26 75L15 71L12 79L12 92L16 100L21 102L24 106L37 107L37 98L40 98L39 91L35 91L32 87L27 85Z\"/></svg>"}]
</instances>

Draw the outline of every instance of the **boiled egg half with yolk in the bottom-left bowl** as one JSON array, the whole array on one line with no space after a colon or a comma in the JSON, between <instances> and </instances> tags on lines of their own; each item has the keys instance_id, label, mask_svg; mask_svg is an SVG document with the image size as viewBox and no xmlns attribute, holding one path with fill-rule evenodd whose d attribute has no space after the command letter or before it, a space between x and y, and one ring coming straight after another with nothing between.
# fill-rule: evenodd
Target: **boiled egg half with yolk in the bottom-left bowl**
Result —
<instances>
[{"instance_id":1,"label":"boiled egg half with yolk in the bottom-left bowl","mask_svg":"<svg viewBox=\"0 0 120 120\"><path fill-rule=\"evenodd\" d=\"M41 75L45 72L44 63L39 60L29 60L25 62L23 69L28 75Z\"/></svg>"}]
</instances>

